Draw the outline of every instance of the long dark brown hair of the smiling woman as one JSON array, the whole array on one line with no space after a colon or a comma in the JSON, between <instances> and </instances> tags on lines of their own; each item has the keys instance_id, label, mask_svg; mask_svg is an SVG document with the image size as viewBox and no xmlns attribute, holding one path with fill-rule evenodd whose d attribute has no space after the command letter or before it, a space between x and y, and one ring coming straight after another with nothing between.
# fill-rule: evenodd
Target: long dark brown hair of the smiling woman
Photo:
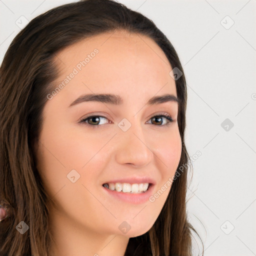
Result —
<instances>
[{"instance_id":1,"label":"long dark brown hair of the smiling woman","mask_svg":"<svg viewBox=\"0 0 256 256\"><path fill-rule=\"evenodd\" d=\"M79 40L124 29L153 39L171 67L183 75L175 80L178 128L182 141L178 164L182 172L173 181L153 226L129 239L125 255L190 256L192 232L187 220L187 162L184 143L186 81L178 55L166 36L141 13L112 0L81 0L64 4L32 19L12 40L0 67L0 204L8 217L0 222L1 255L50 255L48 195L36 169L34 145L42 127L42 110L50 84L57 76L55 54ZM16 225L24 221L24 234ZM197 233L196 233L197 234Z\"/></svg>"}]
</instances>

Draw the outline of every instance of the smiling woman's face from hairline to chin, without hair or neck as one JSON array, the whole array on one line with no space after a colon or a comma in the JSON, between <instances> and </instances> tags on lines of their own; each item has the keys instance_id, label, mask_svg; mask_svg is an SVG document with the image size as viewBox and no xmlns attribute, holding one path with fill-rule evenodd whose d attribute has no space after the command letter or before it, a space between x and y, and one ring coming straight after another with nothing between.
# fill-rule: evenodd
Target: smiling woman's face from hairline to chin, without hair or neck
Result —
<instances>
[{"instance_id":1,"label":"smiling woman's face from hairline to chin, without hair or neck","mask_svg":"<svg viewBox=\"0 0 256 256\"><path fill-rule=\"evenodd\" d=\"M36 152L44 187L56 202L52 218L95 233L145 233L163 207L181 154L177 102L148 103L177 96L172 67L153 40L124 31L84 39L55 59L61 72L47 95ZM72 104L85 94L114 94L119 100L101 96ZM161 114L173 121L166 125ZM80 121L91 115L96 117ZM123 189L135 184L133 193L110 190L111 181L117 190L118 181L128 183ZM152 185L137 193L146 187L139 183Z\"/></svg>"}]
</instances>

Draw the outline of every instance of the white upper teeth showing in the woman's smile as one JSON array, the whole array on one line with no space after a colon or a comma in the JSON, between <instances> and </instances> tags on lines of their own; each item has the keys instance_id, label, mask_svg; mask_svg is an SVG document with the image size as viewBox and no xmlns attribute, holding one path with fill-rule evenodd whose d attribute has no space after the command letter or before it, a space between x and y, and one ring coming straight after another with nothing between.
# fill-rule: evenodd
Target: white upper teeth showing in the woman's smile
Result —
<instances>
[{"instance_id":1,"label":"white upper teeth showing in the woman's smile","mask_svg":"<svg viewBox=\"0 0 256 256\"><path fill-rule=\"evenodd\" d=\"M132 193L138 193L138 192L145 192L148 188L148 183L105 183L103 186L108 187L110 190L116 190L118 192L132 192Z\"/></svg>"}]
</instances>

